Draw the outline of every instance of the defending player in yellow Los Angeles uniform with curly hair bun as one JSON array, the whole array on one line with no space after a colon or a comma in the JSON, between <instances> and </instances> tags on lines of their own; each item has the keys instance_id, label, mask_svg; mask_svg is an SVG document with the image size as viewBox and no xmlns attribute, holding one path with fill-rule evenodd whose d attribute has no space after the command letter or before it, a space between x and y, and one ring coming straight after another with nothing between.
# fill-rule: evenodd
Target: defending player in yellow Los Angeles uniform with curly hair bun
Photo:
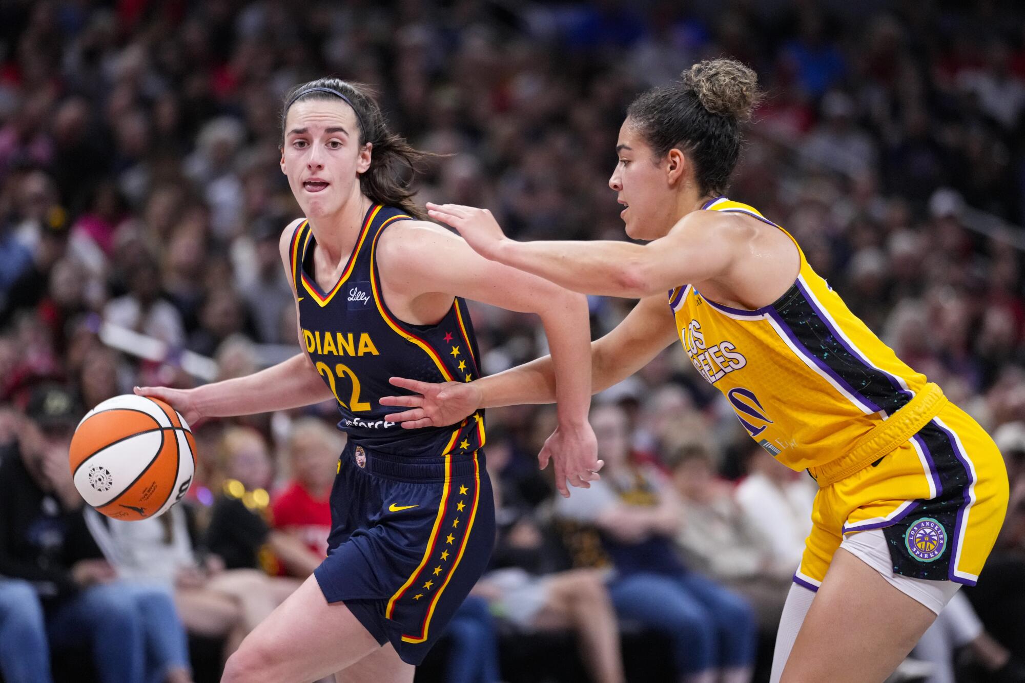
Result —
<instances>
[{"instance_id":1,"label":"defending player in yellow Los Angeles uniform with curly hair bun","mask_svg":"<svg viewBox=\"0 0 1025 683\"><path fill-rule=\"evenodd\" d=\"M716 59L630 106L609 185L626 234L650 244L520 243L486 210L427 206L488 258L576 291L641 298L592 345L596 391L679 337L751 437L811 473L820 488L772 680L883 681L978 578L1007 474L989 436L848 310L786 232L723 196L756 96L751 70ZM388 418L410 426L554 396L547 359L469 387L393 384L420 394L384 400L409 408Z\"/></svg>"}]
</instances>

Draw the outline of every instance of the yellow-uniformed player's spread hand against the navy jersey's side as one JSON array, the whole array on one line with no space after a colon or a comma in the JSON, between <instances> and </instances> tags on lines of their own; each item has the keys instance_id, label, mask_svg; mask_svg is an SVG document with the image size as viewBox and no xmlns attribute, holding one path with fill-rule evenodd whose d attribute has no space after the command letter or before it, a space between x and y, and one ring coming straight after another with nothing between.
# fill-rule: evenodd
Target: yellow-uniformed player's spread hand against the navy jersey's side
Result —
<instances>
[{"instance_id":1,"label":"yellow-uniformed player's spread hand against the navy jersey's side","mask_svg":"<svg viewBox=\"0 0 1025 683\"><path fill-rule=\"evenodd\" d=\"M416 392L412 396L385 396L380 400L381 405L409 408L384 415L384 419L398 423L404 430L455 425L481 407L481 390L473 381L432 384L405 377L392 377L388 381Z\"/></svg>"}]
</instances>

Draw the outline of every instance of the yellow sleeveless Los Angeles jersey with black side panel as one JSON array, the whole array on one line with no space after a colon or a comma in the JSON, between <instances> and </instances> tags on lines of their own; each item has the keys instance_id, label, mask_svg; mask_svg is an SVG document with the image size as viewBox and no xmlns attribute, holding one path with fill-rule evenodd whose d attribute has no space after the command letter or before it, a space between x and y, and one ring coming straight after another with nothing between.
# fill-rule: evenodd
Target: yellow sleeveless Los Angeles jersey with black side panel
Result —
<instances>
[{"instance_id":1,"label":"yellow sleeveless Los Angeles jersey with black side panel","mask_svg":"<svg viewBox=\"0 0 1025 683\"><path fill-rule=\"evenodd\" d=\"M779 228L725 197L702 208ZM669 291L669 307L694 367L723 392L744 429L779 461L804 470L844 456L927 380L851 313L794 245L797 279L769 306L730 308L688 284Z\"/></svg>"}]
</instances>

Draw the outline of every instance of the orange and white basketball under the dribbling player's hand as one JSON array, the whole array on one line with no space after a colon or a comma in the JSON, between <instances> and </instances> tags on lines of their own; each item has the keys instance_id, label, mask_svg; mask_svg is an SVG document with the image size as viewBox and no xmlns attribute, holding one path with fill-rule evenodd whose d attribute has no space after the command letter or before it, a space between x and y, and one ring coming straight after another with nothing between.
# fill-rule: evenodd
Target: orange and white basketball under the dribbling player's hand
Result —
<instances>
[{"instance_id":1,"label":"orange and white basketball under the dribbling player's hand","mask_svg":"<svg viewBox=\"0 0 1025 683\"><path fill-rule=\"evenodd\" d=\"M192 484L196 440L163 401L134 394L90 410L71 440L75 487L108 517L139 520L167 512Z\"/></svg>"}]
</instances>

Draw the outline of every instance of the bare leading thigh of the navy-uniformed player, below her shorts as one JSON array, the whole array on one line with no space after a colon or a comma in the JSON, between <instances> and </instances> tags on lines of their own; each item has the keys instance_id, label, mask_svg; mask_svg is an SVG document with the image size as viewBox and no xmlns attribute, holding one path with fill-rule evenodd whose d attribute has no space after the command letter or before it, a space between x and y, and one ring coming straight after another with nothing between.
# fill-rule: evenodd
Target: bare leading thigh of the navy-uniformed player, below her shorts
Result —
<instances>
[{"instance_id":1,"label":"bare leading thigh of the navy-uniformed player, below her shorts","mask_svg":"<svg viewBox=\"0 0 1025 683\"><path fill-rule=\"evenodd\" d=\"M328 603L310 576L246 636L229 669L239 680L316 680L378 649L344 603Z\"/></svg>"}]
</instances>

